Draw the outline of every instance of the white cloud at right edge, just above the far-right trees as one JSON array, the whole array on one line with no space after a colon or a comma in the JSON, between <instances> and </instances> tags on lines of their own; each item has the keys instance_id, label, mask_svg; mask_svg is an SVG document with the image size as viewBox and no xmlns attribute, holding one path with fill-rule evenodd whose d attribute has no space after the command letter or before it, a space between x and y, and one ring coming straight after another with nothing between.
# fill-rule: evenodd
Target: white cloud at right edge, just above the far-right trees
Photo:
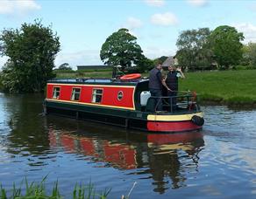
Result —
<instances>
[{"instance_id":1,"label":"white cloud at right edge, just above the far-right trees","mask_svg":"<svg viewBox=\"0 0 256 199\"><path fill-rule=\"evenodd\" d=\"M244 23L244 24L234 24L234 26L239 32L244 33L245 44L249 42L256 42L256 26L255 25Z\"/></svg>"}]
</instances>

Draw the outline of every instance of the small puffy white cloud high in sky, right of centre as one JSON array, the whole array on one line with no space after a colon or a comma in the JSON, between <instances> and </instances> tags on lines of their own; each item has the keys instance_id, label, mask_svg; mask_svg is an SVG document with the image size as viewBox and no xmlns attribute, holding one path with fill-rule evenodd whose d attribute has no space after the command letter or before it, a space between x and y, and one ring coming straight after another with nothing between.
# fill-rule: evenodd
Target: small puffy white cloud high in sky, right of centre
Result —
<instances>
[{"instance_id":1,"label":"small puffy white cloud high in sky, right of centre","mask_svg":"<svg viewBox=\"0 0 256 199\"><path fill-rule=\"evenodd\" d=\"M163 14L154 14L151 17L151 22L153 24L167 26L167 25L178 24L178 19L173 13L166 12Z\"/></svg>"}]
</instances>

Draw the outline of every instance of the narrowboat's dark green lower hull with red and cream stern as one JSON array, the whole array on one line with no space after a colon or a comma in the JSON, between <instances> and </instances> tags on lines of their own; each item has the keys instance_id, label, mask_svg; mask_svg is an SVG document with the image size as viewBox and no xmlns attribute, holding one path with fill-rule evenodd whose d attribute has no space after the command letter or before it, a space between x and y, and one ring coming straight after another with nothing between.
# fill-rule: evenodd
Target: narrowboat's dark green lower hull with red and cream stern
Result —
<instances>
[{"instance_id":1,"label":"narrowboat's dark green lower hull with red and cream stern","mask_svg":"<svg viewBox=\"0 0 256 199\"><path fill-rule=\"evenodd\" d=\"M174 133L199 130L202 127L191 120L194 115L203 118L201 112L147 113L113 107L76 105L74 103L45 101L45 112L60 114L77 120L90 120L151 133Z\"/></svg>"}]
</instances>

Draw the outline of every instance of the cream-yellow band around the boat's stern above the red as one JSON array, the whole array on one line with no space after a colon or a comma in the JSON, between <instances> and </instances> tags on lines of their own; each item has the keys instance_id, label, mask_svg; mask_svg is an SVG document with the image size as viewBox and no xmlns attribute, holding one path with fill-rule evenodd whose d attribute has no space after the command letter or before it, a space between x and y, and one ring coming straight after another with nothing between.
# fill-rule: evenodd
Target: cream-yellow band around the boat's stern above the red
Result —
<instances>
[{"instance_id":1,"label":"cream-yellow band around the boat's stern above the red","mask_svg":"<svg viewBox=\"0 0 256 199\"><path fill-rule=\"evenodd\" d=\"M193 113L193 114L176 114L176 115L160 115L160 114L149 114L147 115L147 120L151 121L186 121L191 120L194 116L203 117L203 113Z\"/></svg>"}]
</instances>

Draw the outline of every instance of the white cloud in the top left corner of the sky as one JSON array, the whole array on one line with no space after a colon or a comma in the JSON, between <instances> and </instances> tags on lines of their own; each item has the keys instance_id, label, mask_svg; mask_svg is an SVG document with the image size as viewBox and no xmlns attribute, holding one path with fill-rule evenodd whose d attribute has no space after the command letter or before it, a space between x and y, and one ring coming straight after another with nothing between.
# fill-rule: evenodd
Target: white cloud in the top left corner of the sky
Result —
<instances>
[{"instance_id":1,"label":"white cloud in the top left corner of the sky","mask_svg":"<svg viewBox=\"0 0 256 199\"><path fill-rule=\"evenodd\" d=\"M23 15L32 10L40 10L41 6L34 0L0 0L0 14Z\"/></svg>"}]
</instances>

